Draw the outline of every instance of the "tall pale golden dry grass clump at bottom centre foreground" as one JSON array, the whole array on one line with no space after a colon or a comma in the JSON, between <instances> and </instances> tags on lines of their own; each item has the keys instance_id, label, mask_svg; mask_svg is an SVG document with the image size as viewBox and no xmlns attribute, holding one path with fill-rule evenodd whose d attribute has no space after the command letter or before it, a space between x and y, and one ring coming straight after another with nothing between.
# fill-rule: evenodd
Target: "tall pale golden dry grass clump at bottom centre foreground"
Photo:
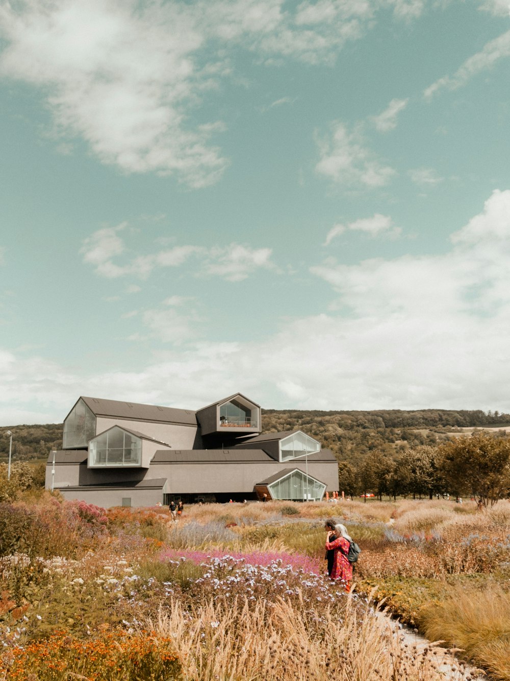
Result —
<instances>
[{"instance_id":1,"label":"tall pale golden dry grass clump at bottom centre foreground","mask_svg":"<svg viewBox=\"0 0 510 681\"><path fill-rule=\"evenodd\" d=\"M228 609L210 601L186 612L177 602L148 623L171 636L186 681L432 681L439 661L405 646L386 620L345 599L339 619L329 607L303 619L279 599L255 605L239 599ZM319 605L319 604L318 604ZM452 671L450 679L465 678Z\"/></svg>"}]
</instances>

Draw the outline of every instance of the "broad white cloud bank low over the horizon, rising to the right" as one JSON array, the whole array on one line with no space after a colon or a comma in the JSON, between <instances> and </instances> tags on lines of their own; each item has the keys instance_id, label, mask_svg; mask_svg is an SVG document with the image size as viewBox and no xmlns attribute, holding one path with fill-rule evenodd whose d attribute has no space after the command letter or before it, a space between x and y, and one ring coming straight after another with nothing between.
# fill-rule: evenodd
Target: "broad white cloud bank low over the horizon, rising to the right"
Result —
<instances>
[{"instance_id":1,"label":"broad white cloud bank low over the horizon, rising to the right","mask_svg":"<svg viewBox=\"0 0 510 681\"><path fill-rule=\"evenodd\" d=\"M495 191L446 253L313 267L341 314L282 319L252 342L197 342L188 307L167 301L147 311L148 333L188 340L141 370L87 375L0 351L0 422L60 421L80 394L196 409L237 390L280 409L509 411L509 262L510 190Z\"/></svg>"}]
</instances>

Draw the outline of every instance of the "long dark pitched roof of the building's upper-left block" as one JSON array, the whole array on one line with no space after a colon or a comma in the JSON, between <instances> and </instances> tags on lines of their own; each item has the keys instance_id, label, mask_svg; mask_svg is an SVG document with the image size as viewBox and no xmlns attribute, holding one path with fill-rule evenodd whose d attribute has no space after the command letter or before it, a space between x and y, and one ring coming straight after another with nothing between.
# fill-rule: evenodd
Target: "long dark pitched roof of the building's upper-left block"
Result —
<instances>
[{"instance_id":1,"label":"long dark pitched roof of the building's upper-left block","mask_svg":"<svg viewBox=\"0 0 510 681\"><path fill-rule=\"evenodd\" d=\"M110 416L118 419L152 421L186 426L197 426L195 412L190 409L174 409L157 405L141 405L138 402L103 400L97 397L81 398L95 416Z\"/></svg>"}]
</instances>

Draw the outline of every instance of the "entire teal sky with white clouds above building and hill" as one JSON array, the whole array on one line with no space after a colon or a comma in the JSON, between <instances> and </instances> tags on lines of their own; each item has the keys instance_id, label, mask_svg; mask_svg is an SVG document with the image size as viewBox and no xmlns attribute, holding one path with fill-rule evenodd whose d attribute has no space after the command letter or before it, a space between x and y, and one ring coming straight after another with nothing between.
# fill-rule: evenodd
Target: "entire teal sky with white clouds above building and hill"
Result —
<instances>
[{"instance_id":1,"label":"entire teal sky with white clouds above building and hill","mask_svg":"<svg viewBox=\"0 0 510 681\"><path fill-rule=\"evenodd\" d=\"M508 0L0 1L0 425L510 411Z\"/></svg>"}]
</instances>

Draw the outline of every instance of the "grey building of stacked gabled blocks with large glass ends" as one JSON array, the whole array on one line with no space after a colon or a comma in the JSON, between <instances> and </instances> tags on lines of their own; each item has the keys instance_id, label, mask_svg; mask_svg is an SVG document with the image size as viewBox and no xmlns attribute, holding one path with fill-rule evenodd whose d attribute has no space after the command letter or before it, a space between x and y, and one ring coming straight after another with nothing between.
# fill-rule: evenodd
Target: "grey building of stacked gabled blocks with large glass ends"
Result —
<instances>
[{"instance_id":1,"label":"grey building of stacked gabled blocks with large glass ends","mask_svg":"<svg viewBox=\"0 0 510 681\"><path fill-rule=\"evenodd\" d=\"M305 501L338 489L337 460L319 441L260 430L259 405L240 393L198 411L80 397L63 448L48 458L46 487L103 507Z\"/></svg>"}]
</instances>

